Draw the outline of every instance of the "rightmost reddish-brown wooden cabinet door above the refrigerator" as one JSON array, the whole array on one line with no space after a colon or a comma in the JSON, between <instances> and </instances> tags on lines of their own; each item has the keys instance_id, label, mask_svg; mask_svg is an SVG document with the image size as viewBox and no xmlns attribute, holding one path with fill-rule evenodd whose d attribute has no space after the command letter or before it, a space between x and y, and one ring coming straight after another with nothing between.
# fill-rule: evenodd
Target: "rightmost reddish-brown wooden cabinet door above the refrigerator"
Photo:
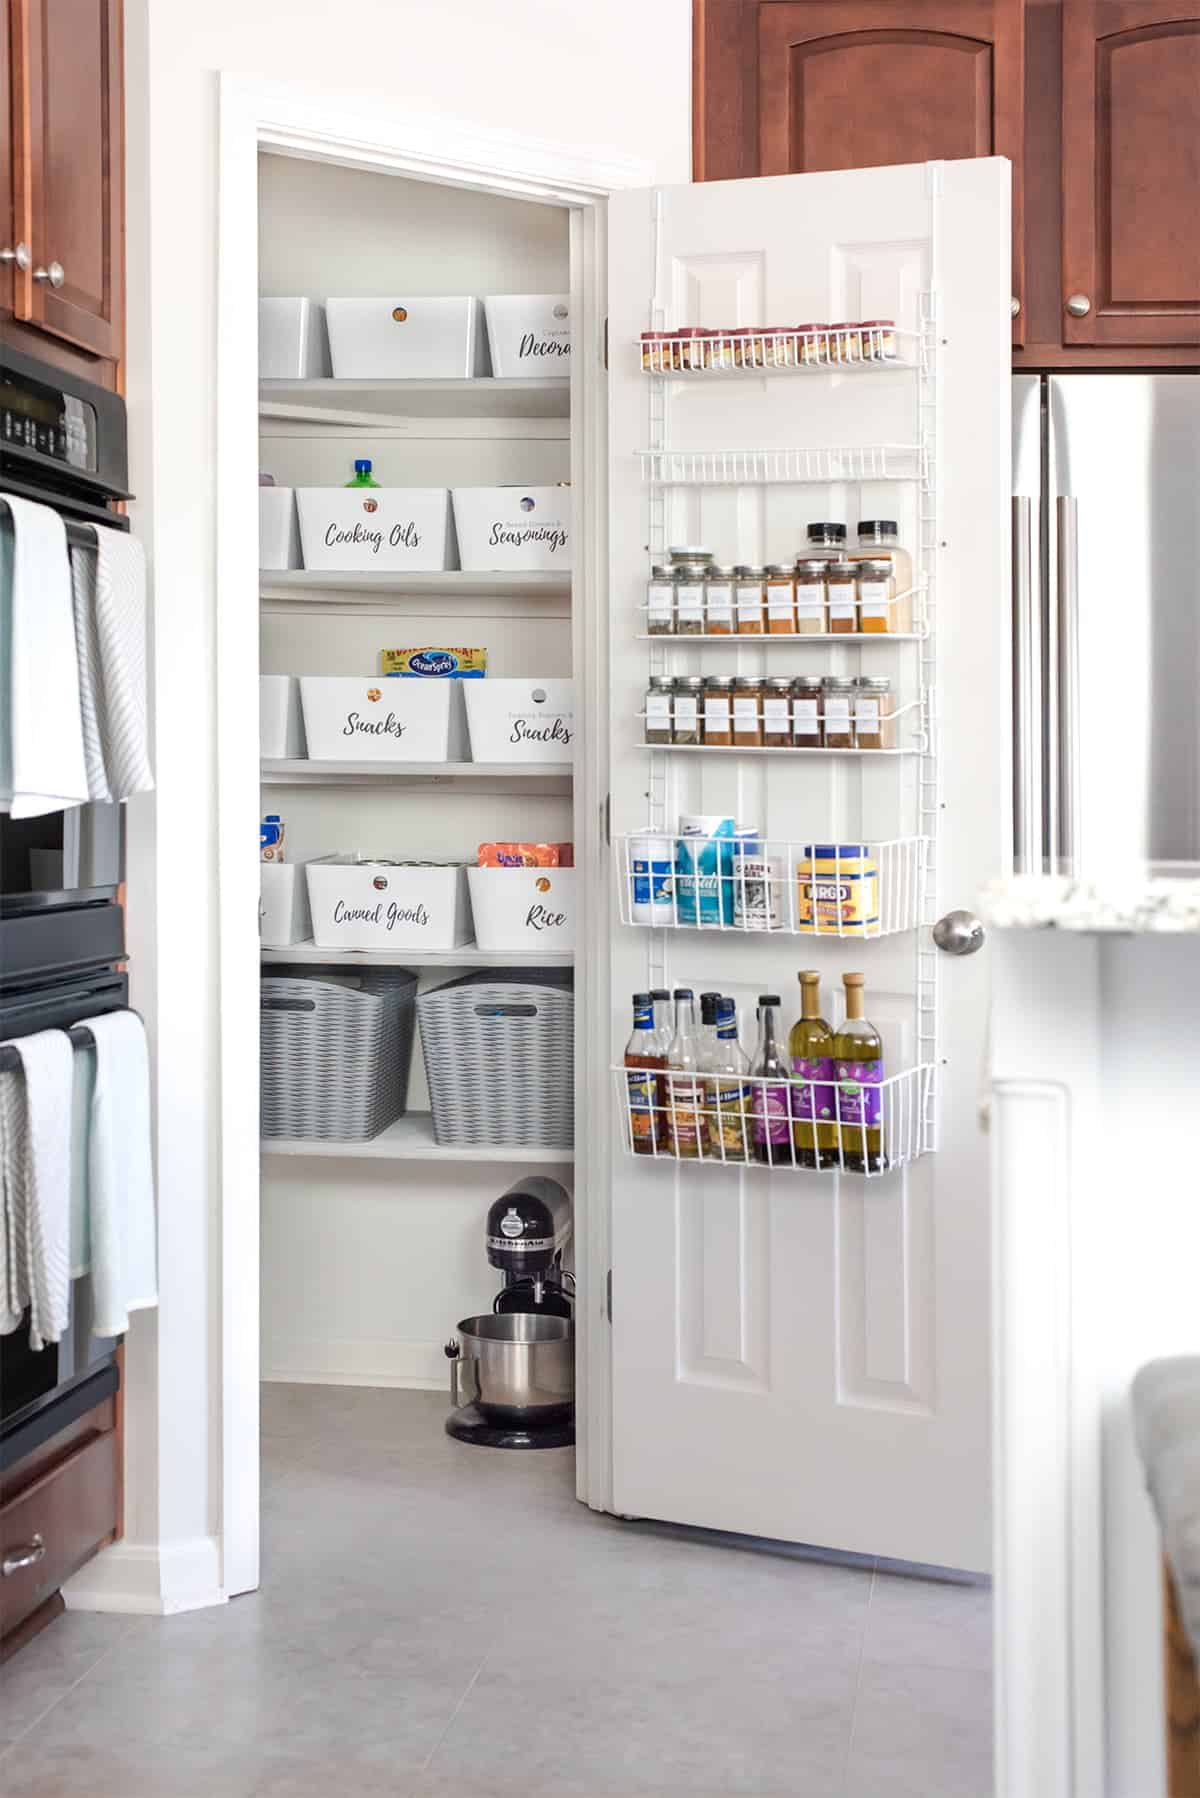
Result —
<instances>
[{"instance_id":1,"label":"rightmost reddish-brown wooden cabinet door above the refrigerator","mask_svg":"<svg viewBox=\"0 0 1200 1798\"><path fill-rule=\"evenodd\" d=\"M1065 343L1200 345L1198 111L1200 13L1065 0Z\"/></svg>"}]
</instances>

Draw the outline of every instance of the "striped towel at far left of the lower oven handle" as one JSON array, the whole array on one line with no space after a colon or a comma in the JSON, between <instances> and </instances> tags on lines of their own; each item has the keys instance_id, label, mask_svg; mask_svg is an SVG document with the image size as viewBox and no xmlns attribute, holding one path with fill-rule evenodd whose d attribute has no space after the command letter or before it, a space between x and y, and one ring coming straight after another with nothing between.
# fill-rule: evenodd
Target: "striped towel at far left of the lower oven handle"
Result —
<instances>
[{"instance_id":1,"label":"striped towel at far left of the lower oven handle","mask_svg":"<svg viewBox=\"0 0 1200 1798\"><path fill-rule=\"evenodd\" d=\"M7 1291L4 1323L16 1329L31 1307L29 1341L56 1343L70 1320L70 1095L74 1050L65 1030L11 1039L22 1075L4 1091L0 1174L4 1178Z\"/></svg>"}]
</instances>

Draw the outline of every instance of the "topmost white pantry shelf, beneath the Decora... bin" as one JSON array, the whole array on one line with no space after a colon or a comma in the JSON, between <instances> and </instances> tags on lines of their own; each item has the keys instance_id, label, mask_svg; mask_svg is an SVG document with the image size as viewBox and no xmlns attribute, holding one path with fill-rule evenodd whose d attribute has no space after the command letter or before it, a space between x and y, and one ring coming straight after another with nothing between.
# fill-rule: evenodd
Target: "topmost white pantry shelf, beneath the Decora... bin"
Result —
<instances>
[{"instance_id":1,"label":"topmost white pantry shelf, beneath the Decora... bin","mask_svg":"<svg viewBox=\"0 0 1200 1798\"><path fill-rule=\"evenodd\" d=\"M570 376L446 381L259 381L259 417L313 424L387 419L565 419Z\"/></svg>"}]
</instances>

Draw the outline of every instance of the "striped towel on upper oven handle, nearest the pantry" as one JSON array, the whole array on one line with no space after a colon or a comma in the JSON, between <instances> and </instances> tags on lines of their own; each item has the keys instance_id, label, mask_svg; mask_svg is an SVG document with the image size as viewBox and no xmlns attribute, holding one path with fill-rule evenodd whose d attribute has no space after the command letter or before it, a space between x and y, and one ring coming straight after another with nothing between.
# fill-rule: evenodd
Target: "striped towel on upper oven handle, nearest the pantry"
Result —
<instances>
[{"instance_id":1,"label":"striped towel on upper oven handle, nearest the pantry","mask_svg":"<svg viewBox=\"0 0 1200 1798\"><path fill-rule=\"evenodd\" d=\"M146 719L146 554L122 530L94 530L95 548L70 554L83 750L88 795L121 800L155 784Z\"/></svg>"}]
</instances>

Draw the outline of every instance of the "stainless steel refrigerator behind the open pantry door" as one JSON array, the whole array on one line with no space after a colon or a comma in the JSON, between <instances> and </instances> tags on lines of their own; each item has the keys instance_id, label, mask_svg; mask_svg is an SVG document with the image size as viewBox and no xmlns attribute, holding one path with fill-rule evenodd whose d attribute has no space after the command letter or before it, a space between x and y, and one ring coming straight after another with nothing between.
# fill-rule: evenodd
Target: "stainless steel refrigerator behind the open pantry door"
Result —
<instances>
[{"instance_id":1,"label":"stainless steel refrigerator behind the open pantry door","mask_svg":"<svg viewBox=\"0 0 1200 1798\"><path fill-rule=\"evenodd\" d=\"M1200 865L1200 379L1013 381L1013 850Z\"/></svg>"}]
</instances>

